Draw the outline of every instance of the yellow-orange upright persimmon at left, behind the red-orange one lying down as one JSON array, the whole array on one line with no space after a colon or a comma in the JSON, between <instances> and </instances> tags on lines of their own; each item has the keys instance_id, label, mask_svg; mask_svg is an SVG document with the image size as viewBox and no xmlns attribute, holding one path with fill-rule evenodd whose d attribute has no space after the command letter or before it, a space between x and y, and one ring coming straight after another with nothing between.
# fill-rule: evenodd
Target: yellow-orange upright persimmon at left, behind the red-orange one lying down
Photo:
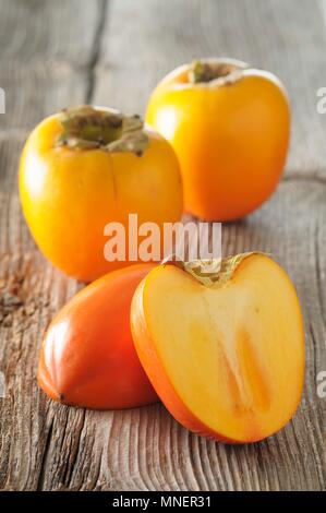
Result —
<instances>
[{"instance_id":1,"label":"yellow-orange upright persimmon at left, behind the red-orange one lying down","mask_svg":"<svg viewBox=\"0 0 326 513\"><path fill-rule=\"evenodd\" d=\"M40 250L85 282L133 263L105 258L109 223L128 230L129 214L137 214L140 224L161 228L179 220L183 208L170 144L138 117L90 106L56 114L36 127L21 158L20 194Z\"/></svg>"}]
</instances>

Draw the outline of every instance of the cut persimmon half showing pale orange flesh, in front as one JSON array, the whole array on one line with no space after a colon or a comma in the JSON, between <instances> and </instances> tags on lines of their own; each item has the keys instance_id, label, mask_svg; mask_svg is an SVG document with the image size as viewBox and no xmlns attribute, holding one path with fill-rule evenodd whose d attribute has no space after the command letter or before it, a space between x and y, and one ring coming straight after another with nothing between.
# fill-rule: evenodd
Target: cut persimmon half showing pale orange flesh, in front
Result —
<instances>
[{"instance_id":1,"label":"cut persimmon half showing pale orange flesh, in front","mask_svg":"<svg viewBox=\"0 0 326 513\"><path fill-rule=\"evenodd\" d=\"M131 323L150 382L188 429L255 442L293 416L304 379L302 314L269 256L240 254L207 275L196 262L159 265L135 291Z\"/></svg>"}]
</instances>

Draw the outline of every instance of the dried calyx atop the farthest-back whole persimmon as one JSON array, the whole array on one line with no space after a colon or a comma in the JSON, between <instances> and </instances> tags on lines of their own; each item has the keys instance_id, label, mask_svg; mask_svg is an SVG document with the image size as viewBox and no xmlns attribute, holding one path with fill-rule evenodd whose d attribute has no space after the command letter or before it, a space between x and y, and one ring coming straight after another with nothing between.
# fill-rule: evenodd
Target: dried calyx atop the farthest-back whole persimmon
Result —
<instances>
[{"instance_id":1,"label":"dried calyx atop the farthest-back whole persimmon","mask_svg":"<svg viewBox=\"0 0 326 513\"><path fill-rule=\"evenodd\" d=\"M244 67L232 62L195 60L190 64L189 82L192 84L228 85L242 77Z\"/></svg>"}]
</instances>

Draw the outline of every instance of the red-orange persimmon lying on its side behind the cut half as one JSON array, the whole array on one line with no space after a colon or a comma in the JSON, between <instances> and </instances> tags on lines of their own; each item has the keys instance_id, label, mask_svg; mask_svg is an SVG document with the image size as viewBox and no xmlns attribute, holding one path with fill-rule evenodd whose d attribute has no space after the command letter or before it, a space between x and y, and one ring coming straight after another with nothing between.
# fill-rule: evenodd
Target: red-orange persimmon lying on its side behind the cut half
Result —
<instances>
[{"instance_id":1,"label":"red-orange persimmon lying on its side behind the cut half","mask_svg":"<svg viewBox=\"0 0 326 513\"><path fill-rule=\"evenodd\" d=\"M129 408L158 401L136 355L130 305L154 264L113 271L77 293L44 337L39 386L55 401L97 408Z\"/></svg>"}]
</instances>

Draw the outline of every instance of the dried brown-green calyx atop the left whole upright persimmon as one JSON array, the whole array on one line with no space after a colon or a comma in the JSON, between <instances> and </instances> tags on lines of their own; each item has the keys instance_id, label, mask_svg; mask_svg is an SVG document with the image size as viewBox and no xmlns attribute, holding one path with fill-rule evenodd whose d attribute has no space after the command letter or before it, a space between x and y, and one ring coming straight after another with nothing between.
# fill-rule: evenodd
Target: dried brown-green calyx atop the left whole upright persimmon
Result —
<instances>
[{"instance_id":1,"label":"dried brown-green calyx atop the left whole upright persimmon","mask_svg":"<svg viewBox=\"0 0 326 513\"><path fill-rule=\"evenodd\" d=\"M148 145L148 136L138 116L123 116L83 105L63 110L59 119L63 131L57 146L132 152L141 156Z\"/></svg>"}]
</instances>

